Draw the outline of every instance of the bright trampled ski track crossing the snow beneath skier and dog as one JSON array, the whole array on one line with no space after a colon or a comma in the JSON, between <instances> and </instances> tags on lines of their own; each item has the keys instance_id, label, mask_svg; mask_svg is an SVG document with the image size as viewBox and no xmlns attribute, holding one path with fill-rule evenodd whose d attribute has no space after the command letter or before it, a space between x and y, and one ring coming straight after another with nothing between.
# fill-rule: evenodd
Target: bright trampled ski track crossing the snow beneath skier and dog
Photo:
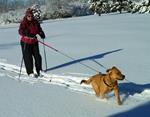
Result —
<instances>
[{"instance_id":1,"label":"bright trampled ski track crossing the snow beneath skier and dog","mask_svg":"<svg viewBox=\"0 0 150 117\"><path fill-rule=\"evenodd\" d=\"M42 73L43 77L41 78L29 78L26 74L25 68L22 68L22 74L19 79L19 72L20 67L0 61L0 77L7 76L19 82L27 82L32 85L39 82L49 85L59 85L62 87L66 87L71 91L81 92L87 95L94 96L94 91L92 90L90 85L80 85L80 81L82 79L88 79L88 74L67 73L63 75L56 75ZM150 99L150 86L137 85L134 83L120 83L119 88L121 99L123 100L124 105L134 105L135 103L149 101ZM114 101L115 97L113 92L108 95L108 98L108 103ZM96 100L106 102L106 100L101 100L99 98L96 98Z\"/></svg>"}]
</instances>

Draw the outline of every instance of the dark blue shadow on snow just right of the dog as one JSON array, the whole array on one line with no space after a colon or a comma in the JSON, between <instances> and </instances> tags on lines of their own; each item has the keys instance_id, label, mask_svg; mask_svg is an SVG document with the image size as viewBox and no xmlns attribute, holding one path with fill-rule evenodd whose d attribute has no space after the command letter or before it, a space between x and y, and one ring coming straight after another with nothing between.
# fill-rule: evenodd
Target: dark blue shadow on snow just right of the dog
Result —
<instances>
[{"instance_id":1,"label":"dark blue shadow on snow just right of the dog","mask_svg":"<svg viewBox=\"0 0 150 117\"><path fill-rule=\"evenodd\" d=\"M150 90L150 84L135 84L133 82L119 84L120 94L125 94L122 102L125 102L130 95L140 94L146 89Z\"/></svg>"}]
</instances>

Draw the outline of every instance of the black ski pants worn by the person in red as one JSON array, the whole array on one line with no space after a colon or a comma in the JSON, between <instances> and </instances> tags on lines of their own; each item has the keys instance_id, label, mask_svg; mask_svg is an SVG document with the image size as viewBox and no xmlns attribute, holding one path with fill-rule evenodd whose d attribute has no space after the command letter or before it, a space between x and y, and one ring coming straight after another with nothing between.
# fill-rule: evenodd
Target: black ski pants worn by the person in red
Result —
<instances>
[{"instance_id":1,"label":"black ski pants worn by the person in red","mask_svg":"<svg viewBox=\"0 0 150 117\"><path fill-rule=\"evenodd\" d=\"M27 44L21 41L20 43L27 74L29 75L34 73L33 62L35 62L36 72L38 75L40 75L40 70L42 70L42 57L39 52L38 42L34 44Z\"/></svg>"}]
</instances>

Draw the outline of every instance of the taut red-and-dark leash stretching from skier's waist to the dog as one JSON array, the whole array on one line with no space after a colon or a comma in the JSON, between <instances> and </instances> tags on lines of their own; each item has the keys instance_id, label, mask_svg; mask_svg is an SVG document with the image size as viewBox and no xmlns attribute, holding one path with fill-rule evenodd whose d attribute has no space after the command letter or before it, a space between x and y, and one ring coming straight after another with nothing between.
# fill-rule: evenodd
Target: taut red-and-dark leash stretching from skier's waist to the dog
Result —
<instances>
[{"instance_id":1,"label":"taut red-and-dark leash stretching from skier's waist to the dog","mask_svg":"<svg viewBox=\"0 0 150 117\"><path fill-rule=\"evenodd\" d=\"M61 52L61 51L59 51L59 50L53 48L52 46L50 46L50 45L48 45L48 44L46 44L46 43L44 43L44 42L42 42L42 41L40 41L40 40L38 40L38 41L39 41L41 44L43 44L43 45L49 47L50 49L52 49L52 50L54 50L54 51L56 51L56 52L62 54L63 56L65 56L65 57L67 57L67 58L70 58L71 60L75 60L73 57L71 57L71 56L69 56L69 55L67 55L67 54L65 54L65 53L63 53L63 52ZM81 62L79 62L79 63L80 63L81 65L83 65L83 66L85 66L85 67L87 67L87 68L89 68L89 69L95 71L95 72L99 72L98 70L96 70L96 69L94 69L94 68L92 68L92 67L90 67L90 66L88 66L88 65L86 65L86 64L84 64L84 63L81 63Z\"/></svg>"}]
</instances>

